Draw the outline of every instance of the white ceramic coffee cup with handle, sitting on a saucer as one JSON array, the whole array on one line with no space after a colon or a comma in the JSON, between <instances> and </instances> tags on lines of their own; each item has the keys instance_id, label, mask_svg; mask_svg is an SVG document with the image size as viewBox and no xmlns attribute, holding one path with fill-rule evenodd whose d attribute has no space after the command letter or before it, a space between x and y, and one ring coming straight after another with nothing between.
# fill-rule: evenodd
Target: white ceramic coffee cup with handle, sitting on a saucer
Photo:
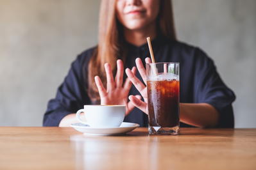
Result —
<instances>
[{"instance_id":1,"label":"white ceramic coffee cup with handle, sitting on a saucer","mask_svg":"<svg viewBox=\"0 0 256 170\"><path fill-rule=\"evenodd\" d=\"M81 112L84 112L87 121L81 120ZM83 109L76 112L76 118L80 123L93 128L120 127L125 112L125 105L84 105Z\"/></svg>"}]
</instances>

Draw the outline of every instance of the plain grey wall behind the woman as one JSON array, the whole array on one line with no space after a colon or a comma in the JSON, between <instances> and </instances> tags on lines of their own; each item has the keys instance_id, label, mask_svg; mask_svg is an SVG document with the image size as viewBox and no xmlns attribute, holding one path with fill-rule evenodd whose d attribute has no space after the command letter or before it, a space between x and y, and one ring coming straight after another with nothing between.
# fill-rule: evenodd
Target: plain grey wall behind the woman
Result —
<instances>
[{"instance_id":1,"label":"plain grey wall behind the woman","mask_svg":"<svg viewBox=\"0 0 256 170\"><path fill-rule=\"evenodd\" d=\"M42 126L77 54L98 42L100 1L0 0L0 126ZM178 40L203 49L256 128L256 1L174 0Z\"/></svg>"}]
</instances>

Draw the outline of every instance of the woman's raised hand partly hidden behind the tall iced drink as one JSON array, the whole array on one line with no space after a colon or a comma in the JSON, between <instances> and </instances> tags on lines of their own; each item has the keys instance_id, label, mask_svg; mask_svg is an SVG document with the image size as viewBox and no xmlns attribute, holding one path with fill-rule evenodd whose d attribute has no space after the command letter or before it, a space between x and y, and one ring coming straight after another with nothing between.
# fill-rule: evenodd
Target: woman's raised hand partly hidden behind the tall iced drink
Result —
<instances>
[{"instance_id":1,"label":"woman's raised hand partly hidden behind the tall iced drink","mask_svg":"<svg viewBox=\"0 0 256 170\"><path fill-rule=\"evenodd\" d=\"M151 63L150 58L146 58L145 61L146 61L146 63ZM141 59L137 58L135 60L135 62L136 62L136 66L139 70L139 73L141 74L141 77L142 77L144 83L147 84L146 70L142 64ZM126 75L128 76L128 78L130 79L130 81L132 81L132 83L134 84L135 88L137 88L137 90L141 93L142 97L144 98L144 102L142 102L140 98L130 95L130 97L129 97L130 102L132 102L133 105L135 105L136 107L141 109L141 111L148 114L147 87L135 76L135 73L133 73L132 70L130 70L129 68L126 68L125 72L126 72Z\"/></svg>"}]
</instances>

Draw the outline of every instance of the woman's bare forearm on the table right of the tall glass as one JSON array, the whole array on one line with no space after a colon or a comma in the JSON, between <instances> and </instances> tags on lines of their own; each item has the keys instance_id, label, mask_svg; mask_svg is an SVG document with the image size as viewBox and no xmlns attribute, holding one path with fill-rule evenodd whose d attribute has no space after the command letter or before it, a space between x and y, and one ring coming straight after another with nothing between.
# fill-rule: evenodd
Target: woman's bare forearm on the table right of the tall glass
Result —
<instances>
[{"instance_id":1,"label":"woman's bare forearm on the table right of the tall glass","mask_svg":"<svg viewBox=\"0 0 256 170\"><path fill-rule=\"evenodd\" d=\"M180 121L195 127L215 127L219 112L210 104L180 104Z\"/></svg>"}]
</instances>

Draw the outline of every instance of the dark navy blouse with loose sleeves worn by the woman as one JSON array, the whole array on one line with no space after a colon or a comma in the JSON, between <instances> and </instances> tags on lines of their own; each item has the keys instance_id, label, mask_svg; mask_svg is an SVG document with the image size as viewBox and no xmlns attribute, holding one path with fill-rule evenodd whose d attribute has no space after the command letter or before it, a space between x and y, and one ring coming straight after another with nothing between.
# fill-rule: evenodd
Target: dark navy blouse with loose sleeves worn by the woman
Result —
<instances>
[{"instance_id":1,"label":"dark navy blouse with loose sleeves worn by the woman","mask_svg":"<svg viewBox=\"0 0 256 170\"><path fill-rule=\"evenodd\" d=\"M145 43L141 47L127 42L125 44L128 47L128 54L124 68L131 69L135 66L136 58L144 61L145 58L150 57L148 44ZM235 95L219 77L212 59L196 47L162 37L156 38L151 44L156 63L180 63L180 102L210 104L220 113L216 127L234 127L232 102L235 100ZM83 69L86 73L94 49L81 53L72 63L67 77L58 88L56 97L48 102L47 111L44 114L44 126L56 127L67 114L75 113L82 109L83 105L92 104L84 88L87 82L83 76ZM137 77L141 79L139 72ZM126 78L125 73L124 78ZM130 89L130 95L139 95L135 86ZM148 127L148 115L137 108L133 109L124 121ZM191 126L180 123L180 127Z\"/></svg>"}]
</instances>

